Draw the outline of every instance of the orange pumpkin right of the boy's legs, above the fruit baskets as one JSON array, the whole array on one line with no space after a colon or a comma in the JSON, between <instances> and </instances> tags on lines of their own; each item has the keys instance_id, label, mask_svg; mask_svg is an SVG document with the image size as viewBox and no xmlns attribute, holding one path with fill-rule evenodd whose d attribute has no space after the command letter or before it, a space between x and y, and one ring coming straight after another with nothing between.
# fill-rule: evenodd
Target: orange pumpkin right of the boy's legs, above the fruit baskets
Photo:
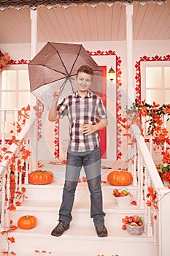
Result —
<instances>
[{"instance_id":1,"label":"orange pumpkin right of the boy's legs, above the fruit baskets","mask_svg":"<svg viewBox=\"0 0 170 256\"><path fill-rule=\"evenodd\" d=\"M133 177L127 170L114 170L107 176L107 181L113 186L128 186L132 180Z\"/></svg>"}]
</instances>

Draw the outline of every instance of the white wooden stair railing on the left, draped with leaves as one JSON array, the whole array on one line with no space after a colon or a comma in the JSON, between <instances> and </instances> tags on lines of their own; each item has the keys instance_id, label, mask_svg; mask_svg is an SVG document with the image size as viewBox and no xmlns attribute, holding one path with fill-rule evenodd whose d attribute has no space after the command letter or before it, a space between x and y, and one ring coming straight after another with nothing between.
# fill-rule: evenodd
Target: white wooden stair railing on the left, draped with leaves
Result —
<instances>
[{"instance_id":1,"label":"white wooden stair railing on the left, draped with leaves","mask_svg":"<svg viewBox=\"0 0 170 256\"><path fill-rule=\"evenodd\" d=\"M7 111L14 111L15 113L15 138L16 141L11 145L8 145L5 137L5 119ZM18 122L18 110L1 110L1 148L7 147L6 151L1 151L1 162L0 162L0 196L1 196L1 228L9 228L10 221L10 200L12 195L12 189L14 190L14 195L12 197L13 205L18 201L23 200L22 187L23 184L28 184L28 172L31 171L32 157L25 159L23 157L23 148L25 151L31 151L31 144L29 143L30 131L36 124L36 115L34 110L31 111L31 118L26 121L26 124L22 127L20 133L17 132L17 122ZM35 131L34 131L35 132ZM10 143L9 143L10 144ZM18 164L19 163L19 164ZM14 170L12 170L14 166ZM20 168L21 171L18 171ZM15 176L15 185L11 187L11 174Z\"/></svg>"}]
</instances>

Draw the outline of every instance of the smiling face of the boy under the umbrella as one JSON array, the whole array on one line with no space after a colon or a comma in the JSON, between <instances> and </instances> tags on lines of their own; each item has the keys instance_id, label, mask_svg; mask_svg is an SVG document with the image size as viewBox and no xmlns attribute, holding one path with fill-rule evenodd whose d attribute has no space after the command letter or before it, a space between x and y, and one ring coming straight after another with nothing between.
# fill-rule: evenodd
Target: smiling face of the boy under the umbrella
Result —
<instances>
[{"instance_id":1,"label":"smiling face of the boy under the umbrella","mask_svg":"<svg viewBox=\"0 0 170 256\"><path fill-rule=\"evenodd\" d=\"M84 72L79 72L77 75L77 87L78 91L87 91L92 83L92 75Z\"/></svg>"}]
</instances>

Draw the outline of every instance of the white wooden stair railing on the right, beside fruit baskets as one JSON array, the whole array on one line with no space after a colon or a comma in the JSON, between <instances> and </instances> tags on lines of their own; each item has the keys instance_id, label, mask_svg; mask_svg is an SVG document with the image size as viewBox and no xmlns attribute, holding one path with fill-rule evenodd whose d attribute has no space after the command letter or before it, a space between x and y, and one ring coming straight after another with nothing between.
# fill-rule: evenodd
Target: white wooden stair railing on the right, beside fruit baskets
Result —
<instances>
[{"instance_id":1,"label":"white wooden stair railing on the right, beside fruit baskets","mask_svg":"<svg viewBox=\"0 0 170 256\"><path fill-rule=\"evenodd\" d=\"M164 187L163 182L155 167L144 136L136 124L131 125L131 132L136 138L134 143L134 160L131 167L134 182L137 185L137 205L144 208L144 227L147 236L153 236L154 255L169 256L169 236L170 223L170 190ZM137 172L136 172L137 170ZM137 173L137 174L136 174ZM147 188L153 187L157 193L158 210L153 206L148 207L146 202ZM157 216L157 219L154 217ZM166 220L167 219L167 220Z\"/></svg>"}]
</instances>

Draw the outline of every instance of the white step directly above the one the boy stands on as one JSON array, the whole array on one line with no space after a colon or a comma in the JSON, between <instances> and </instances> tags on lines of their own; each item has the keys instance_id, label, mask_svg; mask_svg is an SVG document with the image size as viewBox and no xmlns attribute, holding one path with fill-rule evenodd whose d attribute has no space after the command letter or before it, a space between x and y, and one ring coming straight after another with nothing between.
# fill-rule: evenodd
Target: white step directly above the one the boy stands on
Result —
<instances>
[{"instance_id":1,"label":"white step directly above the one the boy stands on","mask_svg":"<svg viewBox=\"0 0 170 256\"><path fill-rule=\"evenodd\" d=\"M36 201L24 200L22 206L17 207L17 211L11 212L11 218L17 223L18 219L24 215L34 215L38 222L43 224L55 224L58 219L58 211L61 202L57 201ZM140 214L143 217L141 209L137 206L128 208L119 208L114 202L104 202L105 221L109 225L120 226L125 215ZM78 225L90 225L90 203L85 201L74 201L72 209L73 222Z\"/></svg>"}]
</instances>

